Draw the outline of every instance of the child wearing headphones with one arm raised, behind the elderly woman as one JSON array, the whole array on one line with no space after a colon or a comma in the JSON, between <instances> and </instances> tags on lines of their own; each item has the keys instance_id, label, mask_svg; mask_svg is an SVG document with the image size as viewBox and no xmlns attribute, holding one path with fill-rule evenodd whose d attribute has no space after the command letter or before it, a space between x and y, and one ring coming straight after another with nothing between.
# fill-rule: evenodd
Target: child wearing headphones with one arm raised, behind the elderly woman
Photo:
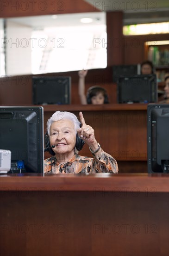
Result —
<instances>
[{"instance_id":1,"label":"child wearing headphones with one arm raised, behind the elderly woman","mask_svg":"<svg viewBox=\"0 0 169 256\"><path fill-rule=\"evenodd\" d=\"M88 70L81 70L78 72L79 75L79 84L78 84L78 93L80 96L81 104L108 104L108 95L104 88L100 86L92 86L88 88L87 95L85 95L85 76L87 75Z\"/></svg>"}]
</instances>

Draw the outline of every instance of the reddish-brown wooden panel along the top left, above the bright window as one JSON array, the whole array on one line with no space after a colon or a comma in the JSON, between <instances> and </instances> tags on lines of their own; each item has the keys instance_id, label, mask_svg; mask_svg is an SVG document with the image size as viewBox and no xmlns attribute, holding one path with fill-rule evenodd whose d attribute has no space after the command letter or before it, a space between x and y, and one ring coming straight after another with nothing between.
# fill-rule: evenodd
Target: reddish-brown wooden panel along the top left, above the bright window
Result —
<instances>
[{"instance_id":1,"label":"reddish-brown wooden panel along the top left, above the bright window","mask_svg":"<svg viewBox=\"0 0 169 256\"><path fill-rule=\"evenodd\" d=\"M1 18L64 13L100 12L83 0L6 0L1 1Z\"/></svg>"}]
</instances>

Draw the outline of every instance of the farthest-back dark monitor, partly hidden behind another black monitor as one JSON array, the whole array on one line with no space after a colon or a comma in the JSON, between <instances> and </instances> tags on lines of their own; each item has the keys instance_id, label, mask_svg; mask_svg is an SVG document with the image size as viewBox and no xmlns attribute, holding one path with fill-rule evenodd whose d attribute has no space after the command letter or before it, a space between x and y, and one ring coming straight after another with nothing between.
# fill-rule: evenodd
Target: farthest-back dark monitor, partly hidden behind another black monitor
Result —
<instances>
[{"instance_id":1,"label":"farthest-back dark monitor, partly hidden behind another black monitor","mask_svg":"<svg viewBox=\"0 0 169 256\"><path fill-rule=\"evenodd\" d=\"M113 82L117 83L120 76L140 74L140 64L136 65L115 65L113 66Z\"/></svg>"}]
</instances>

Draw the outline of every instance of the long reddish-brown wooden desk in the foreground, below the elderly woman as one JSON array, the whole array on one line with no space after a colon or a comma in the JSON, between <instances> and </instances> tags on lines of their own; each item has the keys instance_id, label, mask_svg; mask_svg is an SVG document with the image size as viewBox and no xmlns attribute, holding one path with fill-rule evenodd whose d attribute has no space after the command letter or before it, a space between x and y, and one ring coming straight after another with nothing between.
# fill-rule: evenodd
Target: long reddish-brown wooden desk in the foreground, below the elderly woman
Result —
<instances>
[{"instance_id":1,"label":"long reddish-brown wooden desk in the foreground, below the elderly woman","mask_svg":"<svg viewBox=\"0 0 169 256\"><path fill-rule=\"evenodd\" d=\"M2 256L168 256L169 175L0 177Z\"/></svg>"}]
</instances>

